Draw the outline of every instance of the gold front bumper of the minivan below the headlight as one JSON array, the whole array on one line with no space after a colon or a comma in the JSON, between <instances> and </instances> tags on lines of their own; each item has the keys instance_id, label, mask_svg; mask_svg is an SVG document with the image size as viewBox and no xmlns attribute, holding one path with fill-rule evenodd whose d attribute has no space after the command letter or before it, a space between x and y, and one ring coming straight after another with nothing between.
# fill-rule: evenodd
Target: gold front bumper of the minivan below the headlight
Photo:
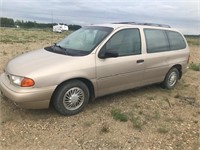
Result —
<instances>
[{"instance_id":1,"label":"gold front bumper of the minivan below the headlight","mask_svg":"<svg viewBox=\"0 0 200 150\"><path fill-rule=\"evenodd\" d=\"M1 93L21 108L48 108L55 88L56 86L45 88L17 87L10 83L5 73L0 76Z\"/></svg>"}]
</instances>

